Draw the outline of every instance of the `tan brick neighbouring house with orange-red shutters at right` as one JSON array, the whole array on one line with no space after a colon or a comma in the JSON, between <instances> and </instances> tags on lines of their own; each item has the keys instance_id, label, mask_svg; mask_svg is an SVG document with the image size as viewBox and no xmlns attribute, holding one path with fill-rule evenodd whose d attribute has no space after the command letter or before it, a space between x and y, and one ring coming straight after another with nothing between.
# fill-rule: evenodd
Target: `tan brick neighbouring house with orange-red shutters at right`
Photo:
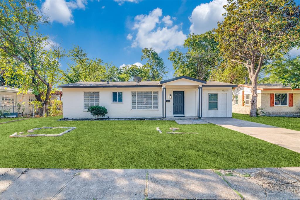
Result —
<instances>
[{"instance_id":1,"label":"tan brick neighbouring house with orange-red shutters at right","mask_svg":"<svg viewBox=\"0 0 300 200\"><path fill-rule=\"evenodd\" d=\"M233 91L232 112L250 114L251 85L241 84ZM300 117L300 91L279 83L258 84L257 108L263 115Z\"/></svg>"}]
</instances>

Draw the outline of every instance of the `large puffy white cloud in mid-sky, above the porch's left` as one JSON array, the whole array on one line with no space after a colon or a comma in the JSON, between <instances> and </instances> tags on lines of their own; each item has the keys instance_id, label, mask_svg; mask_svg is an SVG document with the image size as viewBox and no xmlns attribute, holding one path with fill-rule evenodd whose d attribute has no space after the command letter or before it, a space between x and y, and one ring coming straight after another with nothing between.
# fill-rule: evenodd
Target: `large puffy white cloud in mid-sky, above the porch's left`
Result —
<instances>
[{"instance_id":1,"label":"large puffy white cloud in mid-sky, above the porch's left","mask_svg":"<svg viewBox=\"0 0 300 200\"><path fill-rule=\"evenodd\" d=\"M161 28L159 25L162 16L160 8L154 9L148 15L137 15L134 18L133 26L133 29L137 30L137 34L131 47L152 47L157 53L161 53L163 50L181 46L186 39L186 35L183 34L182 30L179 30L177 25L170 28L167 26ZM165 21L168 21L166 19L168 17L165 18Z\"/></svg>"}]
</instances>

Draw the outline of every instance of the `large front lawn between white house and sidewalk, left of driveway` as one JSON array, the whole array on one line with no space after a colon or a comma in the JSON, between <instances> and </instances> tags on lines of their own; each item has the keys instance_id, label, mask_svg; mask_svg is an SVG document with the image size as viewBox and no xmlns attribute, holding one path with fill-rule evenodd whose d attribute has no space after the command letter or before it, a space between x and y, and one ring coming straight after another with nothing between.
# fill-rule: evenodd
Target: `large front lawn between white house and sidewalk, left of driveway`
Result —
<instances>
[{"instance_id":1,"label":"large front lawn between white house and sidewalk, left of driveway","mask_svg":"<svg viewBox=\"0 0 300 200\"><path fill-rule=\"evenodd\" d=\"M174 121L58 121L32 118L0 125L0 167L258 168L300 166L300 154L213 124ZM42 126L77 127L61 137L9 138ZM160 127L163 134L156 131ZM181 132L166 134L170 127Z\"/></svg>"}]
</instances>

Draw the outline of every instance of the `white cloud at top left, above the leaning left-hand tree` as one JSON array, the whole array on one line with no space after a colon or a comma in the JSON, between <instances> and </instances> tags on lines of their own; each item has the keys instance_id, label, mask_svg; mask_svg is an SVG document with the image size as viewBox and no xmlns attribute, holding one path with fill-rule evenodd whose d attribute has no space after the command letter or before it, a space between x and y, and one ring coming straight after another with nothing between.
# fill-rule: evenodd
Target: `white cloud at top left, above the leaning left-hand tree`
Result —
<instances>
[{"instance_id":1,"label":"white cloud at top left, above the leaning left-hand tree","mask_svg":"<svg viewBox=\"0 0 300 200\"><path fill-rule=\"evenodd\" d=\"M45 0L42 4L42 12L45 13L50 22L57 21L63 25L74 23L72 9L85 9L87 0L76 0L66 2L65 0Z\"/></svg>"}]
</instances>

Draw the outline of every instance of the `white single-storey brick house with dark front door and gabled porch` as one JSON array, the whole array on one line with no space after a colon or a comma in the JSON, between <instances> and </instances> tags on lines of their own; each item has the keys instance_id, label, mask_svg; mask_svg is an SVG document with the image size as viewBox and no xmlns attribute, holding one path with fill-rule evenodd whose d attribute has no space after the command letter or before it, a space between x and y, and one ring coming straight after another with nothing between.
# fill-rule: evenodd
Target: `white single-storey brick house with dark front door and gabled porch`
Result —
<instances>
[{"instance_id":1,"label":"white single-storey brick house with dark front door and gabled porch","mask_svg":"<svg viewBox=\"0 0 300 200\"><path fill-rule=\"evenodd\" d=\"M237 85L180 76L164 81L77 82L60 85L65 118L92 118L89 106L107 108L110 118L232 117Z\"/></svg>"}]
</instances>

